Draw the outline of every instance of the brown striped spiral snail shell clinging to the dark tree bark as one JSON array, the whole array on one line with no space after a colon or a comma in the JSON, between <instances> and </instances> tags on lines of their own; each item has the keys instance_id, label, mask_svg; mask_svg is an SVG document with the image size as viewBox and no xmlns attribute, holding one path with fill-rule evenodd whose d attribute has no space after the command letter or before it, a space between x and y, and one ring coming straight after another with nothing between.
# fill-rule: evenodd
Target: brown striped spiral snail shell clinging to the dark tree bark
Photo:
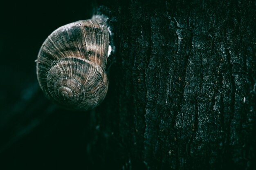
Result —
<instances>
[{"instance_id":1,"label":"brown striped spiral snail shell clinging to the dark tree bark","mask_svg":"<svg viewBox=\"0 0 256 170\"><path fill-rule=\"evenodd\" d=\"M56 29L36 60L38 82L46 97L70 110L98 106L108 91L108 46L108 28L100 18Z\"/></svg>"}]
</instances>

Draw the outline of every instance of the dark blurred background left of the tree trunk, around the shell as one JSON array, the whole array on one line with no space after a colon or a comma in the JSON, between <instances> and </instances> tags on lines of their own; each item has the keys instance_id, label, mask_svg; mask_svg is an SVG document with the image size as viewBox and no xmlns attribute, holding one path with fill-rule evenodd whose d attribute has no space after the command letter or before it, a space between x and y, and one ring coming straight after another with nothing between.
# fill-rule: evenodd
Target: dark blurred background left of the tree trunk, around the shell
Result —
<instances>
[{"instance_id":1,"label":"dark blurred background left of the tree trunk, around the shell","mask_svg":"<svg viewBox=\"0 0 256 170\"><path fill-rule=\"evenodd\" d=\"M90 115L51 104L38 85L34 61L52 31L90 19L94 7L93 1L0 5L1 170L90 167Z\"/></svg>"}]
</instances>

